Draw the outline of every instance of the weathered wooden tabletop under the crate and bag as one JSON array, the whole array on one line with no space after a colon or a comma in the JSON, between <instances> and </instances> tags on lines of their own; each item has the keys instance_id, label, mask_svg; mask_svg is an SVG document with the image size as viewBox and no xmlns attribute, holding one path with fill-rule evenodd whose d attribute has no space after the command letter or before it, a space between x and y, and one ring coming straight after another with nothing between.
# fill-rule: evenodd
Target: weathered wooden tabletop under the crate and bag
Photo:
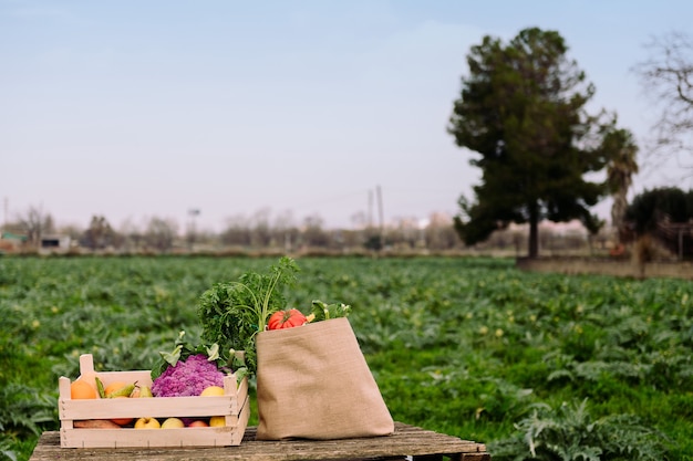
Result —
<instances>
[{"instance_id":1,"label":"weathered wooden tabletop under the crate and bag","mask_svg":"<svg viewBox=\"0 0 693 461\"><path fill-rule=\"evenodd\" d=\"M401 422L386 437L344 440L256 441L256 428L246 429L238 447L176 449L61 448L60 432L43 432L30 461L297 461L297 460L458 460L487 461L483 443L462 440Z\"/></svg>"}]
</instances>

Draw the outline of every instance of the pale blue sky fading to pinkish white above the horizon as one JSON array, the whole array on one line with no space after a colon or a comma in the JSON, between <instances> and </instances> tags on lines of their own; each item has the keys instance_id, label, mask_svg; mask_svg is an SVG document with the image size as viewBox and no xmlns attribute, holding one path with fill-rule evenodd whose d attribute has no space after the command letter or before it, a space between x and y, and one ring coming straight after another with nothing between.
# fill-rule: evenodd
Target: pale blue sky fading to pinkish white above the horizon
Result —
<instances>
[{"instance_id":1,"label":"pale blue sky fading to pinkish white above the horizon","mask_svg":"<svg viewBox=\"0 0 693 461\"><path fill-rule=\"evenodd\" d=\"M0 0L0 199L59 226L183 230L199 208L215 231L263 209L351 227L380 186L386 221L453 214L478 181L445 130L472 45L557 30L640 139L631 67L691 18L689 0Z\"/></svg>"}]
</instances>

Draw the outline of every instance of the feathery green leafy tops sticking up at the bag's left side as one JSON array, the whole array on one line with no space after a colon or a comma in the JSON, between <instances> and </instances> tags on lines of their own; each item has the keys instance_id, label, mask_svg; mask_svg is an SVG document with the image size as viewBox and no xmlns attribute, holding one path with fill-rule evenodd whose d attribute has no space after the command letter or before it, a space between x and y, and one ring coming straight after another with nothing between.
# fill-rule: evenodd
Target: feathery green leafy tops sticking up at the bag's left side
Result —
<instances>
[{"instance_id":1,"label":"feathery green leafy tops sticking up at the bag's left side","mask_svg":"<svg viewBox=\"0 0 693 461\"><path fill-rule=\"evenodd\" d=\"M248 374L257 370L255 336L275 312L287 306L281 289L296 282L299 268L283 256L268 274L246 272L238 281L214 284L198 302L203 338L223 348L245 350Z\"/></svg>"}]
</instances>

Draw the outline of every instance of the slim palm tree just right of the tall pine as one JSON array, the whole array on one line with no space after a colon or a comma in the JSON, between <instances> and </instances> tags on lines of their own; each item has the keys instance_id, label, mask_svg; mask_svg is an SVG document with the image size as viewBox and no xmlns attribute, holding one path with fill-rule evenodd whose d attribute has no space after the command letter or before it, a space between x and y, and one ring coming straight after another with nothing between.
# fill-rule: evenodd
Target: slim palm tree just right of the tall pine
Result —
<instances>
[{"instance_id":1,"label":"slim palm tree just right of the tall pine","mask_svg":"<svg viewBox=\"0 0 693 461\"><path fill-rule=\"evenodd\" d=\"M638 172L638 145L628 129L612 129L604 135L602 147L611 157L607 165L607 184L613 205L611 206L611 224L616 230L616 243L620 243L619 230L623 227L623 217L628 208L628 189L633 184L632 177Z\"/></svg>"}]
</instances>

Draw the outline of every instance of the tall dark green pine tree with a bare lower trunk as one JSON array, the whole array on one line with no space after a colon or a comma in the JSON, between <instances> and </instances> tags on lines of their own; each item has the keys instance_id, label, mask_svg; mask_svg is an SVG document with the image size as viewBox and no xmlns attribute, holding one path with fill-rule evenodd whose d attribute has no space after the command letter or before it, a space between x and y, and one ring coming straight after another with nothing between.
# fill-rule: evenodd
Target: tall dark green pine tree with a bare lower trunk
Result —
<instances>
[{"instance_id":1,"label":"tall dark green pine tree with a bare lower trunk","mask_svg":"<svg viewBox=\"0 0 693 461\"><path fill-rule=\"evenodd\" d=\"M475 200L462 196L455 229L467 244L487 239L510 222L529 223L529 258L538 256L538 224L579 219L591 231L590 213L606 193L586 175L604 168L597 117L585 108L594 93L558 32L526 29L507 45L485 36L467 55L448 133L478 154L482 169Z\"/></svg>"}]
</instances>

